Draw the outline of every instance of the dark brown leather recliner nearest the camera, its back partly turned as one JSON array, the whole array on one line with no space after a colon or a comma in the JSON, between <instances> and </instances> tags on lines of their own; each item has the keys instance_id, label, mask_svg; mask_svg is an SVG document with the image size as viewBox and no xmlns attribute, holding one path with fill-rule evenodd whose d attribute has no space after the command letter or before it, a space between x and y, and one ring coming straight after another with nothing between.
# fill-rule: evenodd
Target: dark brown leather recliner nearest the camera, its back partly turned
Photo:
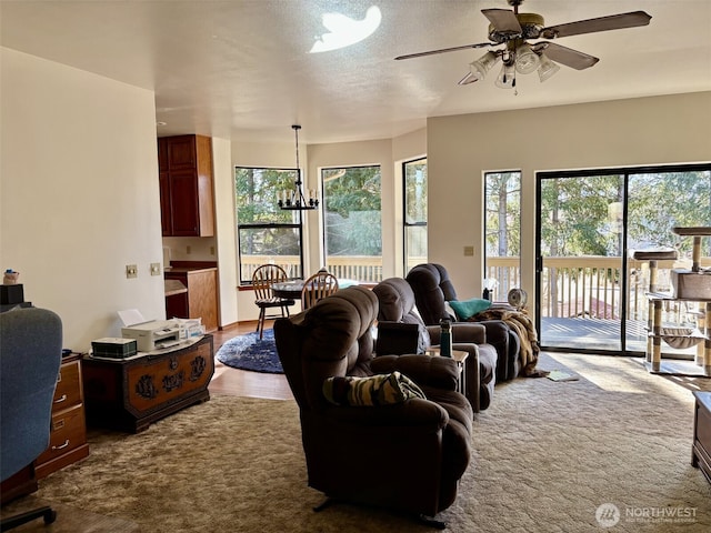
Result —
<instances>
[{"instance_id":1,"label":"dark brown leather recliner nearest the camera, its back partly turned","mask_svg":"<svg viewBox=\"0 0 711 533\"><path fill-rule=\"evenodd\" d=\"M373 359L377 296L342 289L311 309L277 319L274 339L299 405L308 483L328 501L435 516L457 497L471 459L472 409L455 391L448 358ZM336 405L323 383L333 376L399 371L425 399L378 406Z\"/></svg>"}]
</instances>

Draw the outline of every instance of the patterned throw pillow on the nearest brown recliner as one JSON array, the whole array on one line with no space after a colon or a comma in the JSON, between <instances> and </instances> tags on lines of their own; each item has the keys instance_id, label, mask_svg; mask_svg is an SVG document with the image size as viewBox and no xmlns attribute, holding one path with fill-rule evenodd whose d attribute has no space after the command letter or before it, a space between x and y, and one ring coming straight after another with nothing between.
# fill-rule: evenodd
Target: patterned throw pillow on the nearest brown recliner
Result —
<instances>
[{"instance_id":1,"label":"patterned throw pillow on the nearest brown recliner","mask_svg":"<svg viewBox=\"0 0 711 533\"><path fill-rule=\"evenodd\" d=\"M323 395L336 405L377 406L425 399L422 390L400 372L369 378L333 376L323 382Z\"/></svg>"}]
</instances>

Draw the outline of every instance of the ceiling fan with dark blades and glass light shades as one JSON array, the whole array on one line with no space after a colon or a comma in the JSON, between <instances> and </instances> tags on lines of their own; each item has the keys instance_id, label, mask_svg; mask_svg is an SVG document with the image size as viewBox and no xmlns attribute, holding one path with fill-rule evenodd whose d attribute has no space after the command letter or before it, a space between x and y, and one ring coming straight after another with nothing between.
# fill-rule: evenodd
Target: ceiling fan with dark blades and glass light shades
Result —
<instances>
[{"instance_id":1,"label":"ceiling fan with dark blades and glass light shades","mask_svg":"<svg viewBox=\"0 0 711 533\"><path fill-rule=\"evenodd\" d=\"M559 39L561 37L595 33L599 31L620 30L648 26L652 19L644 11L611 14L597 19L579 20L557 26L544 26L543 17L538 13L519 13L519 6L523 0L507 0L513 10L482 9L489 19L489 40L461 47L442 48L427 52L398 56L395 59L412 59L437 53L454 52L470 48L491 47L481 58L470 63L470 71L459 81L460 86L483 80L494 64L501 61L502 68L497 78L497 87L503 89L515 88L515 73L529 74L538 71L541 82L553 76L562 63L575 70L583 70L595 64L599 59L571 48L561 47L550 40L528 42L529 39ZM502 48L495 48L502 47Z\"/></svg>"}]
</instances>

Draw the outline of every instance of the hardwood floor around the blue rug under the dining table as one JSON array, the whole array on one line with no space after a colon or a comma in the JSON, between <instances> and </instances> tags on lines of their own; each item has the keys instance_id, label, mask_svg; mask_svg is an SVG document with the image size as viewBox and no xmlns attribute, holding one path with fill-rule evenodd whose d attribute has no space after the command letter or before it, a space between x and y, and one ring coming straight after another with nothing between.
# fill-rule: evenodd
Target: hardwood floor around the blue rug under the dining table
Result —
<instances>
[{"instance_id":1,"label":"hardwood floor around the blue rug under the dining table","mask_svg":"<svg viewBox=\"0 0 711 533\"><path fill-rule=\"evenodd\" d=\"M267 321L266 328L271 328L273 321ZM241 322L212 333L214 352L230 339L254 331L257 321ZM214 375L209 386L210 393L231 394L236 396L266 398L271 400L292 400L291 389L283 374L264 374L248 372L226 366L216 360Z\"/></svg>"}]
</instances>

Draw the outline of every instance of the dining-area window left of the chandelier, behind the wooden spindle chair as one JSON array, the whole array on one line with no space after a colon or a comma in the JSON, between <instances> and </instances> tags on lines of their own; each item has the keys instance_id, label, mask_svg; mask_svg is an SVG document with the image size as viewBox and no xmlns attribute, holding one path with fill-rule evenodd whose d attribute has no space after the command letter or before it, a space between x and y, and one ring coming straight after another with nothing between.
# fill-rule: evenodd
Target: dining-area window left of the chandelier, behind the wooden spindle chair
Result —
<instances>
[{"instance_id":1,"label":"dining-area window left of the chandelier, behind the wooden spindle chair","mask_svg":"<svg viewBox=\"0 0 711 533\"><path fill-rule=\"evenodd\" d=\"M294 169L234 169L241 284L251 283L264 263L283 266L289 278L302 276L301 212L277 205L277 192L293 188L296 178Z\"/></svg>"}]
</instances>

